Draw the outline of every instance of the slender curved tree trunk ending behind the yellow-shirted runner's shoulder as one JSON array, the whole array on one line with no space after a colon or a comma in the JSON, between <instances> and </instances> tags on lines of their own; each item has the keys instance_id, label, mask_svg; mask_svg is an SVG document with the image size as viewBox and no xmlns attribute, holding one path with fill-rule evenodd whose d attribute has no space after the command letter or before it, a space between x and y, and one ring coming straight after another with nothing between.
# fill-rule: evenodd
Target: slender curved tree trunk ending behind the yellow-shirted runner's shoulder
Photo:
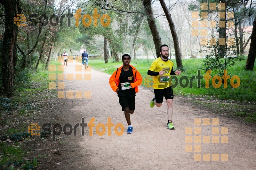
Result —
<instances>
[{"instance_id":1,"label":"slender curved tree trunk ending behind the yellow-shirted runner's shoulder","mask_svg":"<svg viewBox=\"0 0 256 170\"><path fill-rule=\"evenodd\" d=\"M179 39L178 39L178 35L176 33L176 30L175 30L174 22L172 21L171 14L170 14L164 0L159 0L159 1L160 1L160 4L161 4L161 6L164 10L166 19L169 23L170 30L171 30L171 33L172 33L172 39L173 39L173 45L174 45L174 50L175 50L175 58L176 58L177 67L178 68L183 68L181 53L180 53L180 46L179 46Z\"/></svg>"}]
</instances>

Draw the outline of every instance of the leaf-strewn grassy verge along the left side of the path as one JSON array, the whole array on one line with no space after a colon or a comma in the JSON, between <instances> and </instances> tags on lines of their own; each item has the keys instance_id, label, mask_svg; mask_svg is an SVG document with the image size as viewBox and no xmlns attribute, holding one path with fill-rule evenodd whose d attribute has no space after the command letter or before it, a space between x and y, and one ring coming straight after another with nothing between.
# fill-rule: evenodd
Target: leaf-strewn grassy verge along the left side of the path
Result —
<instances>
[{"instance_id":1,"label":"leaf-strewn grassy verge along the left side of the path","mask_svg":"<svg viewBox=\"0 0 256 170\"><path fill-rule=\"evenodd\" d=\"M57 61L52 61L50 64L59 65ZM44 64L39 64L37 71L24 70L21 71L17 77L16 91L11 98L4 98L0 96L0 117L1 124L8 124L16 122L14 118L30 117L30 120L36 116L37 109L43 105L39 102L48 98L56 97L56 90L49 90L48 70L44 70ZM57 68L57 66L56 66ZM54 71L51 73L62 73ZM6 115L12 115L6 117ZM9 124L9 127L10 126ZM28 147L24 147L26 143L19 143L21 139L30 140L28 136L28 124L26 121L20 122L16 128L9 128L2 131L0 135L1 140L10 139L11 142L0 143L0 169L35 169L38 166L36 158L33 160L25 160L25 155L29 152ZM22 149L23 148L23 149ZM12 165L15 167L12 168Z\"/></svg>"}]
</instances>

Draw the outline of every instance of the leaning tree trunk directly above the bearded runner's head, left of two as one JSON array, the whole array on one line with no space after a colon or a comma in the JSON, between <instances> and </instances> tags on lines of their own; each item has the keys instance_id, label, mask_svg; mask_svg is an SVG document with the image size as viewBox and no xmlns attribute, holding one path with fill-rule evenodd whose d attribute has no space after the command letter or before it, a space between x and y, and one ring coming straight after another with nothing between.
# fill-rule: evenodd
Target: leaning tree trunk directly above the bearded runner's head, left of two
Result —
<instances>
[{"instance_id":1,"label":"leaning tree trunk directly above the bearded runner's head, left of two","mask_svg":"<svg viewBox=\"0 0 256 170\"><path fill-rule=\"evenodd\" d=\"M162 45L162 42L161 42L159 32L157 30L155 18L153 16L151 0L142 0L142 2L143 2L143 7L145 9L145 12L147 14L148 26L149 26L151 34L153 36L153 41L154 41L155 48L156 48L156 57L158 58L161 56L159 48Z\"/></svg>"}]
</instances>

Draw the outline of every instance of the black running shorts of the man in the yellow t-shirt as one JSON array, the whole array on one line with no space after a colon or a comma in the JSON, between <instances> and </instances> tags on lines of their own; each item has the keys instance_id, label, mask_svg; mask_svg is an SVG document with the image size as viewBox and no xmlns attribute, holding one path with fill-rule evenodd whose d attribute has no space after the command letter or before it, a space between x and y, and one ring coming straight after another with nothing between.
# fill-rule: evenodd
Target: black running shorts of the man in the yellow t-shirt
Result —
<instances>
[{"instance_id":1,"label":"black running shorts of the man in the yellow t-shirt","mask_svg":"<svg viewBox=\"0 0 256 170\"><path fill-rule=\"evenodd\" d=\"M163 103L163 100L173 99L172 86L166 87L164 89L154 89L156 103Z\"/></svg>"}]
</instances>

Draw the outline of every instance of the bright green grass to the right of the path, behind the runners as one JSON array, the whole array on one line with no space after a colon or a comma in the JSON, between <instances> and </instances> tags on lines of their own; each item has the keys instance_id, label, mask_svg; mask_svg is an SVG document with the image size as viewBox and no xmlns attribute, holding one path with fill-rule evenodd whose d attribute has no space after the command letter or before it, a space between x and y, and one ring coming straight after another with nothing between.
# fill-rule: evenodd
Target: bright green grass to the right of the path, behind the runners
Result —
<instances>
[{"instance_id":1,"label":"bright green grass to the right of the path, behind the runners","mask_svg":"<svg viewBox=\"0 0 256 170\"><path fill-rule=\"evenodd\" d=\"M144 85L144 78L147 77L147 71L154 59L137 59L132 60L131 65L136 67L140 74L142 75ZM174 70L176 70L176 60L172 60L174 62ZM108 74L113 74L113 72L120 67L123 63L104 63L104 60L90 60L90 64L92 68L96 70L103 71ZM197 76L198 70L201 70L201 76L205 75L205 71L201 69L203 66L203 59L183 59L183 71L181 76L187 76L189 79L189 84L186 88L180 86L180 82L177 87L174 88L174 94L181 94L185 96L195 96L195 95L206 95L206 96L215 96L220 100L236 100L236 101L256 101L256 76L255 71L245 71L245 63L246 60L239 61L236 65L228 68L228 75L230 78L233 75L237 75L240 78L240 86L238 88L233 88L230 85L230 79L227 83L227 88L224 88L223 83L219 88L214 88L212 85L212 80L209 81L209 88L205 88L205 80L201 79L200 88L197 87L197 79L192 81L192 88L190 85L190 78L192 76ZM254 64L254 68L256 69L256 64ZM212 78L216 74L212 72ZM180 80L180 76L177 76L178 80ZM175 80L172 80L173 84ZM183 80L182 83L185 84L186 80ZM217 83L217 82L216 82ZM236 83L236 80L235 80Z\"/></svg>"}]
</instances>

